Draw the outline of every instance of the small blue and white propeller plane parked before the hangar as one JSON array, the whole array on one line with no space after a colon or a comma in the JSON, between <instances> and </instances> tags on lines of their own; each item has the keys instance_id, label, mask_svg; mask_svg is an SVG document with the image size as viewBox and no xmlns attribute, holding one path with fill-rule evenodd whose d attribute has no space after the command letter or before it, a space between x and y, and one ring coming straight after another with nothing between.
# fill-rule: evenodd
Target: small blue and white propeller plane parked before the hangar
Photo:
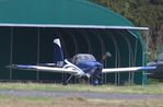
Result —
<instances>
[{"instance_id":1,"label":"small blue and white propeller plane parked before the hangar","mask_svg":"<svg viewBox=\"0 0 163 107\"><path fill-rule=\"evenodd\" d=\"M92 78L92 84L101 84L102 73L112 72L135 72L143 70L153 70L155 67L130 67L130 68L103 68L102 62L96 61L94 56L90 54L78 54L71 60L63 59L61 50L60 39L54 39L55 47L55 62L54 63L40 63L38 66L24 66L24 64L11 64L9 68L20 70L32 70L32 71L48 71L69 73L70 76L63 82L68 84L69 80L74 75L77 78ZM103 59L110 57L109 52L106 52Z\"/></svg>"}]
</instances>

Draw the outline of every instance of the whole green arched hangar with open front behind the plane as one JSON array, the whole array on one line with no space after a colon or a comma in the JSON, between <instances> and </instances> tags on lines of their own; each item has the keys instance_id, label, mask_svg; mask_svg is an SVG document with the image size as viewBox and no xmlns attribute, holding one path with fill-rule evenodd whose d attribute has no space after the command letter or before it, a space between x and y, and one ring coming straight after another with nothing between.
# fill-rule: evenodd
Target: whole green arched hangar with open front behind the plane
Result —
<instances>
[{"instance_id":1,"label":"whole green arched hangar with open front behind the plane","mask_svg":"<svg viewBox=\"0 0 163 107\"><path fill-rule=\"evenodd\" d=\"M112 57L103 61L105 68L136 67L145 63L144 44L138 31L109 28L133 25L112 10L88 0L0 0L0 13L2 81L61 82L68 74L5 68L12 63L53 62L53 40L57 37L61 39L66 58L86 52L94 55L100 61L102 56L109 51ZM94 27L91 27L92 25ZM144 79L142 72L103 75L104 83L115 84L141 84ZM71 83L77 82L75 78L71 80Z\"/></svg>"}]
</instances>

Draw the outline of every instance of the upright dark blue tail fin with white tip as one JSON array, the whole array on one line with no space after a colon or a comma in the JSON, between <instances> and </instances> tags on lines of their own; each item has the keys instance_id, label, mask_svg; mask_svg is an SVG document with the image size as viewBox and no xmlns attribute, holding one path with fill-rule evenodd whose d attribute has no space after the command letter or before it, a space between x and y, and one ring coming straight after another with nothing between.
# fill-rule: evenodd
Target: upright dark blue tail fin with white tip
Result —
<instances>
[{"instance_id":1,"label":"upright dark blue tail fin with white tip","mask_svg":"<svg viewBox=\"0 0 163 107\"><path fill-rule=\"evenodd\" d=\"M54 39L54 62L57 64L57 67L63 66L63 54L59 38Z\"/></svg>"}]
</instances>

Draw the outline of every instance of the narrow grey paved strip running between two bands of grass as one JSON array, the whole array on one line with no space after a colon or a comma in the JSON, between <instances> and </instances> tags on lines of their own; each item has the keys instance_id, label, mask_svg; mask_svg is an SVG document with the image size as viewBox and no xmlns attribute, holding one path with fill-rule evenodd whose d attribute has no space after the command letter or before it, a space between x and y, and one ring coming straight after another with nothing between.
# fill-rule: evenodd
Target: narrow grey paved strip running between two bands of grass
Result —
<instances>
[{"instance_id":1,"label":"narrow grey paved strip running between two bands of grass","mask_svg":"<svg viewBox=\"0 0 163 107\"><path fill-rule=\"evenodd\" d=\"M50 92L50 91L15 91L0 90L0 95L11 95L21 97L54 97L63 98L78 96L83 98L100 98L100 99L151 99L163 98L163 95L153 94L108 94L108 93L90 93L90 92Z\"/></svg>"}]
</instances>

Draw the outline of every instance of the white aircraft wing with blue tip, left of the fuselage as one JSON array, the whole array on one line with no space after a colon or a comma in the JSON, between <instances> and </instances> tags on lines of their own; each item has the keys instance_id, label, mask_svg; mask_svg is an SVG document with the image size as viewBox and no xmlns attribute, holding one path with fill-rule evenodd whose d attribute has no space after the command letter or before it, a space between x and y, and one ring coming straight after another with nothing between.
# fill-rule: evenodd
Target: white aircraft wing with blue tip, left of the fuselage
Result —
<instances>
[{"instance_id":1,"label":"white aircraft wing with blue tip, left of the fuselage","mask_svg":"<svg viewBox=\"0 0 163 107\"><path fill-rule=\"evenodd\" d=\"M78 73L77 71L69 68L63 69L63 68L56 68L56 67L11 64L11 66L8 66L8 68L28 70L28 71L45 71L45 72L58 72L58 73L70 73L70 74Z\"/></svg>"}]
</instances>

